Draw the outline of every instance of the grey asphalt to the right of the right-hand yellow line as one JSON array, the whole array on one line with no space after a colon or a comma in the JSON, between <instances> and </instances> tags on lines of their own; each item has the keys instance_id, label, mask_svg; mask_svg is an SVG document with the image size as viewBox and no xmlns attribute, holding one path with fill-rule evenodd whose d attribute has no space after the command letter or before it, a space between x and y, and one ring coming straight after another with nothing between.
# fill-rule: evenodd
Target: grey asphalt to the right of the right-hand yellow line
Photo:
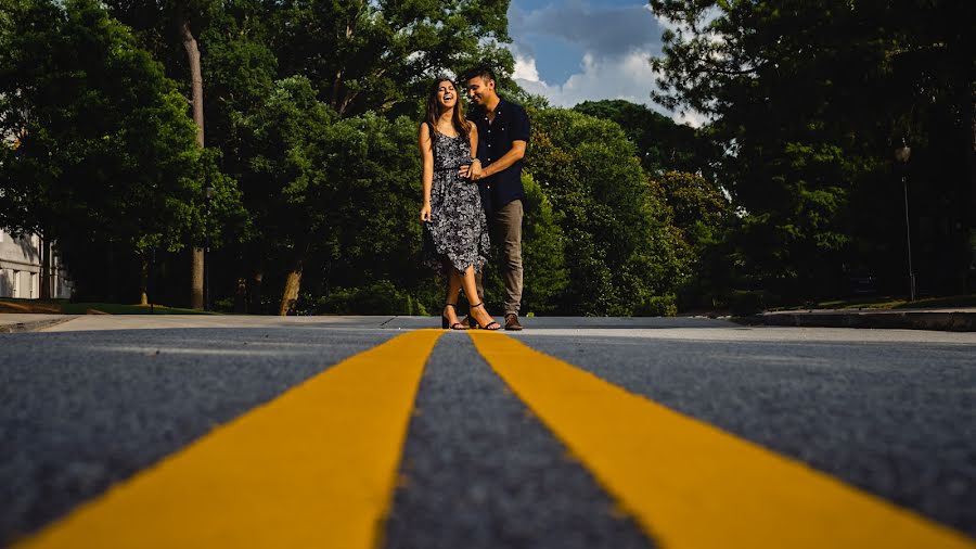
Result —
<instances>
[{"instance_id":1,"label":"grey asphalt to the right of the right-hand yellow line","mask_svg":"<svg viewBox=\"0 0 976 549\"><path fill-rule=\"evenodd\" d=\"M976 345L517 337L976 536Z\"/></svg>"}]
</instances>

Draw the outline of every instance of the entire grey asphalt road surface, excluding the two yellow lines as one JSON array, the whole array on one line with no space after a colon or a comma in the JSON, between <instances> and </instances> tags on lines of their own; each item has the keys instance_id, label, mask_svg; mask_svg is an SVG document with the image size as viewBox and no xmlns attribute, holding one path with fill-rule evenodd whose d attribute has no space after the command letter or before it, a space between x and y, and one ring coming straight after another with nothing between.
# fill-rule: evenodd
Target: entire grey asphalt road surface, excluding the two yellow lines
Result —
<instances>
[{"instance_id":1,"label":"entire grey asphalt road surface, excluding the two yellow lines","mask_svg":"<svg viewBox=\"0 0 976 549\"><path fill-rule=\"evenodd\" d=\"M337 362L435 323L187 322L203 325L86 331L72 321L0 334L0 545ZM526 324L509 335L976 537L976 334L708 319ZM658 545L465 334L446 333L426 362L399 475L380 526L385 547Z\"/></svg>"}]
</instances>

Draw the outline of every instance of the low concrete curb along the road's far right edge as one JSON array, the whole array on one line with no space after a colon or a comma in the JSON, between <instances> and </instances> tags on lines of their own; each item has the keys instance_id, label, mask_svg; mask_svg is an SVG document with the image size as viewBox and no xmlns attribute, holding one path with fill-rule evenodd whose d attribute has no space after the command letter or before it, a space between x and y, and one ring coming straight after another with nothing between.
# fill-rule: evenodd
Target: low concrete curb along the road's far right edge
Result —
<instances>
[{"instance_id":1,"label":"low concrete curb along the road's far right edge","mask_svg":"<svg viewBox=\"0 0 976 549\"><path fill-rule=\"evenodd\" d=\"M976 312L962 311L766 312L731 320L745 325L976 332Z\"/></svg>"}]
</instances>

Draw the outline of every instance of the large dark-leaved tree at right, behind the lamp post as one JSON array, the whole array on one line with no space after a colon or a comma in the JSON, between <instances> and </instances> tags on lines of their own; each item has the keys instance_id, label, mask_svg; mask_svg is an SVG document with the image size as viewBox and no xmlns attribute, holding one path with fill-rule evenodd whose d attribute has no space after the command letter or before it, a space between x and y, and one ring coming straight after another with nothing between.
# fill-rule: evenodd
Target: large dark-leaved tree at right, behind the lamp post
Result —
<instances>
[{"instance_id":1,"label":"large dark-leaved tree at right, behind the lamp post","mask_svg":"<svg viewBox=\"0 0 976 549\"><path fill-rule=\"evenodd\" d=\"M710 135L727 151L720 182L744 212L736 240L747 283L836 293L843 273L865 260L861 251L901 255L890 253L900 231L889 187L902 136L928 149L916 174L929 184L915 204L950 227L969 216L936 214L935 204L968 204L974 194L955 184L973 180L972 2L651 3L676 27L654 60L664 75L655 97L715 120ZM929 149L936 142L948 146ZM946 165L955 166L948 178L923 175ZM967 267L950 263L955 272Z\"/></svg>"}]
</instances>

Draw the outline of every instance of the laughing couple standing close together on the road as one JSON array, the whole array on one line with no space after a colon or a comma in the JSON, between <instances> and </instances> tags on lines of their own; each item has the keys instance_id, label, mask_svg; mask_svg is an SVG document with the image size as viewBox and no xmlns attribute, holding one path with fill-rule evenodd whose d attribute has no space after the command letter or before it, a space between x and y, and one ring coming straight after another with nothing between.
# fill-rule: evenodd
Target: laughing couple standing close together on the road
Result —
<instances>
[{"instance_id":1,"label":"laughing couple standing close together on the road","mask_svg":"<svg viewBox=\"0 0 976 549\"><path fill-rule=\"evenodd\" d=\"M454 84L438 78L420 126L424 263L447 274L442 328L465 328L457 311L463 290L471 304L468 325L498 330L501 324L485 309L480 276L490 232L490 242L501 247L504 328L522 330L522 158L529 119L522 106L498 97L491 71L471 72L462 81L474 104L471 117L464 116Z\"/></svg>"}]
</instances>

